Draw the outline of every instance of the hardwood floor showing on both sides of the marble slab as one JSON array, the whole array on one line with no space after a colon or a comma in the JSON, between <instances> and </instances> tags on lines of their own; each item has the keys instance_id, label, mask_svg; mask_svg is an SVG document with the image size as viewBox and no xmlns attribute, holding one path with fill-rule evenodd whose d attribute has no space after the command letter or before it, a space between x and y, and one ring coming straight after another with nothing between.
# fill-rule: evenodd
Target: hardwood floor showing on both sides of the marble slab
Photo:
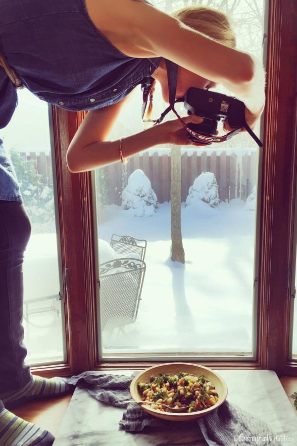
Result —
<instances>
[{"instance_id":1,"label":"hardwood floor showing on both sides of the marble slab","mask_svg":"<svg viewBox=\"0 0 297 446\"><path fill-rule=\"evenodd\" d=\"M294 400L293 398L290 398L290 395L297 391L297 378L285 376L280 379L280 382L294 408ZM68 394L58 398L42 399L26 403L14 409L13 413L26 421L30 421L31 423L48 430L52 435L56 436L71 396L71 394ZM295 412L297 416L297 410L295 410Z\"/></svg>"}]
</instances>

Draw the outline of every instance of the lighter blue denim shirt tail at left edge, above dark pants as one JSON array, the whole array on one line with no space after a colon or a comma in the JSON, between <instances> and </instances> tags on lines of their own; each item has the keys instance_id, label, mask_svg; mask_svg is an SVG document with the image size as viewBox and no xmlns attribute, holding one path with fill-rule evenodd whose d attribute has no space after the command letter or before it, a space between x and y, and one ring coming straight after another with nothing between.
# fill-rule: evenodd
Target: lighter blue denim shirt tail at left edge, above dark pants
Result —
<instances>
[{"instance_id":1,"label":"lighter blue denim shirt tail at left edge, above dark pants","mask_svg":"<svg viewBox=\"0 0 297 446\"><path fill-rule=\"evenodd\" d=\"M14 168L0 139L0 200L22 201Z\"/></svg>"}]
</instances>

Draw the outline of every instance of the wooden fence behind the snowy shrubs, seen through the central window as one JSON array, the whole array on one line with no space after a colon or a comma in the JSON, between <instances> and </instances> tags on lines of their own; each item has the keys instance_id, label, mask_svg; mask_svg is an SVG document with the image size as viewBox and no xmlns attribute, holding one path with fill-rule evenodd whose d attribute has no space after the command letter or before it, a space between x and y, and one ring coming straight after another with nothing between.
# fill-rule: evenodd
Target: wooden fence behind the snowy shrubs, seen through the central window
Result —
<instances>
[{"instance_id":1,"label":"wooden fence behind the snowy shrubs, seen through the central window","mask_svg":"<svg viewBox=\"0 0 297 446\"><path fill-rule=\"evenodd\" d=\"M181 199L186 201L189 188L202 172L214 173L220 201L229 202L233 198L246 200L257 179L257 153L244 155L221 152L184 152L182 154ZM125 170L123 169L127 169ZM170 201L170 153L148 152L134 155L128 164L114 163L103 168L104 202L121 205L123 175L127 179L136 169L141 169L151 182L151 187L159 203ZM102 182L101 182L102 184ZM103 192L103 191L102 191Z\"/></svg>"}]
</instances>

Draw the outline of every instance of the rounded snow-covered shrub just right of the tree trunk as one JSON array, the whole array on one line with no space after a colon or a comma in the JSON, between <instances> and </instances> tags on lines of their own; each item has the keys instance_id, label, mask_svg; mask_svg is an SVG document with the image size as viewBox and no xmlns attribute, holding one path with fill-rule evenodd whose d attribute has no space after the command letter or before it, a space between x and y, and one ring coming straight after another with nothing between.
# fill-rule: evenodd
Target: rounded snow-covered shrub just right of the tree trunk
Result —
<instances>
[{"instance_id":1,"label":"rounded snow-covered shrub just right of the tree trunk","mask_svg":"<svg viewBox=\"0 0 297 446\"><path fill-rule=\"evenodd\" d=\"M212 172L202 172L189 189L186 205L195 205L199 201L207 203L212 208L220 202L218 183Z\"/></svg>"}]
</instances>

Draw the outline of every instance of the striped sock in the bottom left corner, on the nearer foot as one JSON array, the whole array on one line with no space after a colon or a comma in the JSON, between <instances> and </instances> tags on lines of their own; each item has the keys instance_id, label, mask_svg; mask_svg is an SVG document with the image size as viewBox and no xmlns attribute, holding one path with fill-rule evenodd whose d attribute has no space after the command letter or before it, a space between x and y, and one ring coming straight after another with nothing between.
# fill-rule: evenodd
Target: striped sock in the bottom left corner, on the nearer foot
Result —
<instances>
[{"instance_id":1,"label":"striped sock in the bottom left corner, on the nearer foot","mask_svg":"<svg viewBox=\"0 0 297 446\"><path fill-rule=\"evenodd\" d=\"M0 412L0 445L5 446L50 446L54 437L35 424L28 423L7 409Z\"/></svg>"}]
</instances>

